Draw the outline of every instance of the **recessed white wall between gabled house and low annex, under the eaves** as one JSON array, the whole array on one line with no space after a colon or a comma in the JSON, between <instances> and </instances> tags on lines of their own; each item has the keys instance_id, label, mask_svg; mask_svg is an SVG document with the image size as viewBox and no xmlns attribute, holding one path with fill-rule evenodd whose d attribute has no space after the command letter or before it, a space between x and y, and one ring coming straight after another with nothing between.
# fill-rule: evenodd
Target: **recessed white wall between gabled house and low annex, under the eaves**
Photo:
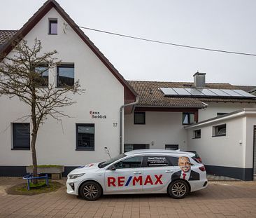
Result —
<instances>
[{"instance_id":1,"label":"recessed white wall between gabled house and low annex, under the eaves","mask_svg":"<svg viewBox=\"0 0 256 218\"><path fill-rule=\"evenodd\" d=\"M165 149L178 144L186 149L187 133L181 112L145 112L145 125L134 124L134 114L125 115L125 144L150 144L150 149Z\"/></svg>"}]
</instances>

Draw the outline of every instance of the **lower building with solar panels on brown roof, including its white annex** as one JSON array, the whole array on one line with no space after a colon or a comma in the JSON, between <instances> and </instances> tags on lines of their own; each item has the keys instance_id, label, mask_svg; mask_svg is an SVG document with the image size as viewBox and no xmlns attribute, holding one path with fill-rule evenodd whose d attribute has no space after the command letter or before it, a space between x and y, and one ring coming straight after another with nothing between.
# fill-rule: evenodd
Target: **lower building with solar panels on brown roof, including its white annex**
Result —
<instances>
[{"instance_id":1,"label":"lower building with solar panels on brown roof, including its white annex","mask_svg":"<svg viewBox=\"0 0 256 218\"><path fill-rule=\"evenodd\" d=\"M256 147L253 145L256 98L243 92L240 86L205 83L205 80L205 74L196 73L194 83L129 81L140 100L134 114L125 115L125 150L144 148L197 151L208 172L253 179L253 163L256 166L253 161L253 147ZM214 93L217 94L214 96ZM248 110L244 108L255 109L246 112L243 116L246 118L239 119L239 122L243 120L245 124L231 124L228 119L231 114L241 109ZM222 124L227 125L228 132L223 137L212 135L211 124L208 124L207 133L206 127L196 128L198 122L200 126L206 126L204 123L208 123L208 119L213 118L216 123L223 116L229 121L227 124L219 123L220 127ZM214 126L218 127L218 124ZM222 128L218 131L224 130ZM202 139L198 139L199 136ZM240 141L242 144L239 147L232 144ZM246 153L241 153L241 150Z\"/></svg>"}]
</instances>

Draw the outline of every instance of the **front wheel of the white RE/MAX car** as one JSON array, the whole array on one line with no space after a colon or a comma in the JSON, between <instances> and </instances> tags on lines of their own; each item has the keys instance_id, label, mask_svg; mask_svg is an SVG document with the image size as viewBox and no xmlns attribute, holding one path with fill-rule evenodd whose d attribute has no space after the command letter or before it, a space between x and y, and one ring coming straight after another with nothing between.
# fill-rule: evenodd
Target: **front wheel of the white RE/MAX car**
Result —
<instances>
[{"instance_id":1,"label":"front wheel of the white RE/MAX car","mask_svg":"<svg viewBox=\"0 0 256 218\"><path fill-rule=\"evenodd\" d=\"M85 200L97 200L101 197L102 189L97 182L88 181L80 186L80 196Z\"/></svg>"}]
</instances>

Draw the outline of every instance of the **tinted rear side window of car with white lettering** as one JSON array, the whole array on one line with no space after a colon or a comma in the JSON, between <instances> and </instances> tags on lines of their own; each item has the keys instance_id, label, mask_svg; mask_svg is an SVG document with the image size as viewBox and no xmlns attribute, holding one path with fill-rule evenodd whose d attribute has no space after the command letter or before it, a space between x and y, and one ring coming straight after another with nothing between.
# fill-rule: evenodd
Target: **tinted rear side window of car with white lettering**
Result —
<instances>
[{"instance_id":1,"label":"tinted rear side window of car with white lettering","mask_svg":"<svg viewBox=\"0 0 256 218\"><path fill-rule=\"evenodd\" d=\"M167 167L171 163L166 156L145 156L143 166L145 168Z\"/></svg>"}]
</instances>

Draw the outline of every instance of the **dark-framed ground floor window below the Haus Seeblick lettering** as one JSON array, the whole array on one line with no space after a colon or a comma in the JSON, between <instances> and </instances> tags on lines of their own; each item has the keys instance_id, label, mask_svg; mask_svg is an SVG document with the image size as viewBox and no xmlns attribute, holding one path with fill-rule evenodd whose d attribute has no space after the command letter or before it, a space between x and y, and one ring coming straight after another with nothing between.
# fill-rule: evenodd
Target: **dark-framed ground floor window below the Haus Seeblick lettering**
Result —
<instances>
[{"instance_id":1,"label":"dark-framed ground floor window below the Haus Seeblick lettering","mask_svg":"<svg viewBox=\"0 0 256 218\"><path fill-rule=\"evenodd\" d=\"M94 124L76 124L76 150L94 151Z\"/></svg>"}]
</instances>

